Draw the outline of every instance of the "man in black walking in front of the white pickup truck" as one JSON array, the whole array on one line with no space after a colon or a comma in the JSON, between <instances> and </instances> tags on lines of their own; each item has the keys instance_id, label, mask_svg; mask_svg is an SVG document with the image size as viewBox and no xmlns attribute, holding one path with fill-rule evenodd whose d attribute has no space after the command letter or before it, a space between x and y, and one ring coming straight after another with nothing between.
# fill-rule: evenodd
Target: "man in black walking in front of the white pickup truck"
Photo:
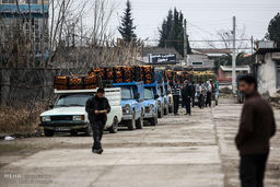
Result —
<instances>
[{"instance_id":1,"label":"man in black walking in front of the white pickup truck","mask_svg":"<svg viewBox=\"0 0 280 187\"><path fill-rule=\"evenodd\" d=\"M93 131L92 152L97 154L103 152L101 140L107 121L107 114L110 112L108 100L104 97L104 89L98 89L96 95L88 100L85 107Z\"/></svg>"}]
</instances>

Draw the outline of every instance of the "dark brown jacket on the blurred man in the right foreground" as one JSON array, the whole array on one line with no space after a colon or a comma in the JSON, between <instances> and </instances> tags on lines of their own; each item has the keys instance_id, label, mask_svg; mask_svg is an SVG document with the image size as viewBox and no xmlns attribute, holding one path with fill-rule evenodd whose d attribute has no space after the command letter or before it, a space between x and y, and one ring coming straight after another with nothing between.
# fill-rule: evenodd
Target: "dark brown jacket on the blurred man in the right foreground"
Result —
<instances>
[{"instance_id":1,"label":"dark brown jacket on the blurred man in the right foreground","mask_svg":"<svg viewBox=\"0 0 280 187\"><path fill-rule=\"evenodd\" d=\"M276 133L276 121L270 104L257 92L246 100L235 143L240 153L265 154L269 139Z\"/></svg>"}]
</instances>

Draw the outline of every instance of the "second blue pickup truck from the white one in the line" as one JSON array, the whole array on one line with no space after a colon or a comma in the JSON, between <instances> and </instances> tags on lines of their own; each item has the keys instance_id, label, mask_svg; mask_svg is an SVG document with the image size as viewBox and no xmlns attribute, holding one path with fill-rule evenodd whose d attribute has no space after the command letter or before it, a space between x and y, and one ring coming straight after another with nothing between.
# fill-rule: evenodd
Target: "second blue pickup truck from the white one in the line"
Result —
<instances>
[{"instance_id":1,"label":"second blue pickup truck from the white one in the line","mask_svg":"<svg viewBox=\"0 0 280 187\"><path fill-rule=\"evenodd\" d=\"M151 126L158 124L158 84L144 84L144 120L149 121Z\"/></svg>"}]
</instances>

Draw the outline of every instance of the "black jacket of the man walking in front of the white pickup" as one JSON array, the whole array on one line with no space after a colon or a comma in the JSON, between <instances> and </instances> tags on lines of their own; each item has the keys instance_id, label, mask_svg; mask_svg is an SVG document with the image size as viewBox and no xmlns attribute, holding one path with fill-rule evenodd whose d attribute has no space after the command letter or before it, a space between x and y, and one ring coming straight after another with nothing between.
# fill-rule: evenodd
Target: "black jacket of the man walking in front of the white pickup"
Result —
<instances>
[{"instance_id":1,"label":"black jacket of the man walking in front of the white pickup","mask_svg":"<svg viewBox=\"0 0 280 187\"><path fill-rule=\"evenodd\" d=\"M106 114L95 114L95 110L104 110L107 109L107 113L110 112L109 102L106 97L100 98L96 95L89 98L86 102L85 110L89 114L89 119L91 124L93 124L96 120L102 120L103 122L107 121L107 115Z\"/></svg>"}]
</instances>

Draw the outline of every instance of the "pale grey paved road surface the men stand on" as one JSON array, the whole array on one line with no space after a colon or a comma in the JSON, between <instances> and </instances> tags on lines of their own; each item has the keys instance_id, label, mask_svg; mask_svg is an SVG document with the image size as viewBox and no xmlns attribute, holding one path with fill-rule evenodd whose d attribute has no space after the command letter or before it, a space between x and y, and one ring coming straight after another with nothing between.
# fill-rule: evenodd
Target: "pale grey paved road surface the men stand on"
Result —
<instances>
[{"instance_id":1,"label":"pale grey paved road surface the men stand on","mask_svg":"<svg viewBox=\"0 0 280 187\"><path fill-rule=\"evenodd\" d=\"M0 141L0 186L238 186L233 139L241 105L223 100L212 109L195 108L190 117L183 113L155 127L105 135L102 155L91 153L88 137ZM280 110L276 116L280 121ZM280 186L279 130L266 185Z\"/></svg>"}]
</instances>

